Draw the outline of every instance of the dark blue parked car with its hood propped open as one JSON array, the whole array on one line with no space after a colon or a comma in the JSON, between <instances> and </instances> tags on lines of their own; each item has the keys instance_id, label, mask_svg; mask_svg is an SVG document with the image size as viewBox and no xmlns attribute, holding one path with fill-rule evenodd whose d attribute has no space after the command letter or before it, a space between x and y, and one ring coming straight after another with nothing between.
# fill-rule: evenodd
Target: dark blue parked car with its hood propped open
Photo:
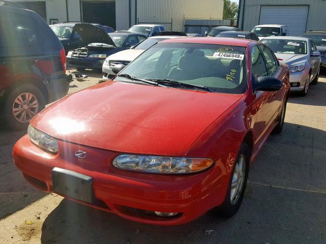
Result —
<instances>
[{"instance_id":1,"label":"dark blue parked car with its hood propped open","mask_svg":"<svg viewBox=\"0 0 326 244\"><path fill-rule=\"evenodd\" d=\"M75 24L74 31L78 32L86 46L69 51L67 65L77 70L86 68L102 71L106 57L137 45L147 36L142 33L117 32L106 34L103 29L92 24Z\"/></svg>"}]
</instances>

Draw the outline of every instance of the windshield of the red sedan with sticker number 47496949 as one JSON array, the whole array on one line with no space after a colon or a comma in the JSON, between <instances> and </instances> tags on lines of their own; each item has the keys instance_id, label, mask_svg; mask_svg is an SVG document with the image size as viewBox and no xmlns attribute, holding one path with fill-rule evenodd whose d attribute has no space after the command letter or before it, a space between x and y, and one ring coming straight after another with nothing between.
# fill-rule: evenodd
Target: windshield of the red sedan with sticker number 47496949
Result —
<instances>
[{"instance_id":1,"label":"windshield of the red sedan with sticker number 47496949","mask_svg":"<svg viewBox=\"0 0 326 244\"><path fill-rule=\"evenodd\" d=\"M213 44L158 43L130 63L122 74L142 80L179 82L211 92L246 91L246 48ZM115 80L121 80L118 76ZM124 80L123 80L124 81ZM181 84L185 84L182 87ZM166 85L166 84L164 84Z\"/></svg>"}]
</instances>

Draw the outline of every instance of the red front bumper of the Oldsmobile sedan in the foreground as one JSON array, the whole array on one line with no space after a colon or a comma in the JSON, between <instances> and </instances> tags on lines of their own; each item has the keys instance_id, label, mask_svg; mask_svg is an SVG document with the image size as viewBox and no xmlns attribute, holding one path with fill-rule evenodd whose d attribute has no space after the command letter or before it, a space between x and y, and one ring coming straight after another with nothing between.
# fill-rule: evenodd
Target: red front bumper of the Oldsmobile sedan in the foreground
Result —
<instances>
[{"instance_id":1,"label":"red front bumper of the Oldsmobile sedan in the foreground","mask_svg":"<svg viewBox=\"0 0 326 244\"><path fill-rule=\"evenodd\" d=\"M45 153L22 137L14 146L15 164L26 180L45 192L51 192L53 168L63 168L93 178L95 201L79 203L113 212L123 218L147 224L178 225L193 221L220 205L226 195L230 173L225 165L230 155L216 160L209 169L188 175L157 175L116 169L111 162L114 151L58 141L59 154ZM62 149L64 148L64 149ZM87 152L79 159L74 152ZM232 157L236 157L236 153ZM174 218L156 217L153 211L179 212Z\"/></svg>"}]
</instances>

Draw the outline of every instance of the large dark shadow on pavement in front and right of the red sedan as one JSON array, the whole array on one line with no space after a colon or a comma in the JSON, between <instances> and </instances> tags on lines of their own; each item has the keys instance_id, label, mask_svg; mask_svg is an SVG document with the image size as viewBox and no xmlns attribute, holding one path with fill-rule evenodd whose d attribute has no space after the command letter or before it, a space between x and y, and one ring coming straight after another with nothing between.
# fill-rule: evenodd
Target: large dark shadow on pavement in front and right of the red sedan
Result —
<instances>
[{"instance_id":1,"label":"large dark shadow on pavement in front and right of the red sedan","mask_svg":"<svg viewBox=\"0 0 326 244\"><path fill-rule=\"evenodd\" d=\"M325 131L286 123L284 133L271 136L251 166L241 208L231 219L219 218L210 211L192 223L159 227L63 200L46 218L41 241L325 243L326 194L318 192L326 185L322 177L326 175L325 142ZM213 231L206 234L205 230Z\"/></svg>"}]
</instances>

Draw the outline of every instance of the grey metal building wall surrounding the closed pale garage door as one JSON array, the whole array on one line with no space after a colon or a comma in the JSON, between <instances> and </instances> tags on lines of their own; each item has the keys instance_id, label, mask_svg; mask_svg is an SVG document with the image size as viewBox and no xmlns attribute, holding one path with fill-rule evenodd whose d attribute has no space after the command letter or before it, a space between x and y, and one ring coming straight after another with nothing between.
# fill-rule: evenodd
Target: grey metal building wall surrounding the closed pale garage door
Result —
<instances>
[{"instance_id":1,"label":"grey metal building wall surrounding the closed pale garage door","mask_svg":"<svg viewBox=\"0 0 326 244\"><path fill-rule=\"evenodd\" d=\"M326 1L324 0L240 0L241 11L239 16L239 28L242 26L243 2L244 7L243 31L251 31L258 25L261 5L309 5L307 29L326 29Z\"/></svg>"}]
</instances>

